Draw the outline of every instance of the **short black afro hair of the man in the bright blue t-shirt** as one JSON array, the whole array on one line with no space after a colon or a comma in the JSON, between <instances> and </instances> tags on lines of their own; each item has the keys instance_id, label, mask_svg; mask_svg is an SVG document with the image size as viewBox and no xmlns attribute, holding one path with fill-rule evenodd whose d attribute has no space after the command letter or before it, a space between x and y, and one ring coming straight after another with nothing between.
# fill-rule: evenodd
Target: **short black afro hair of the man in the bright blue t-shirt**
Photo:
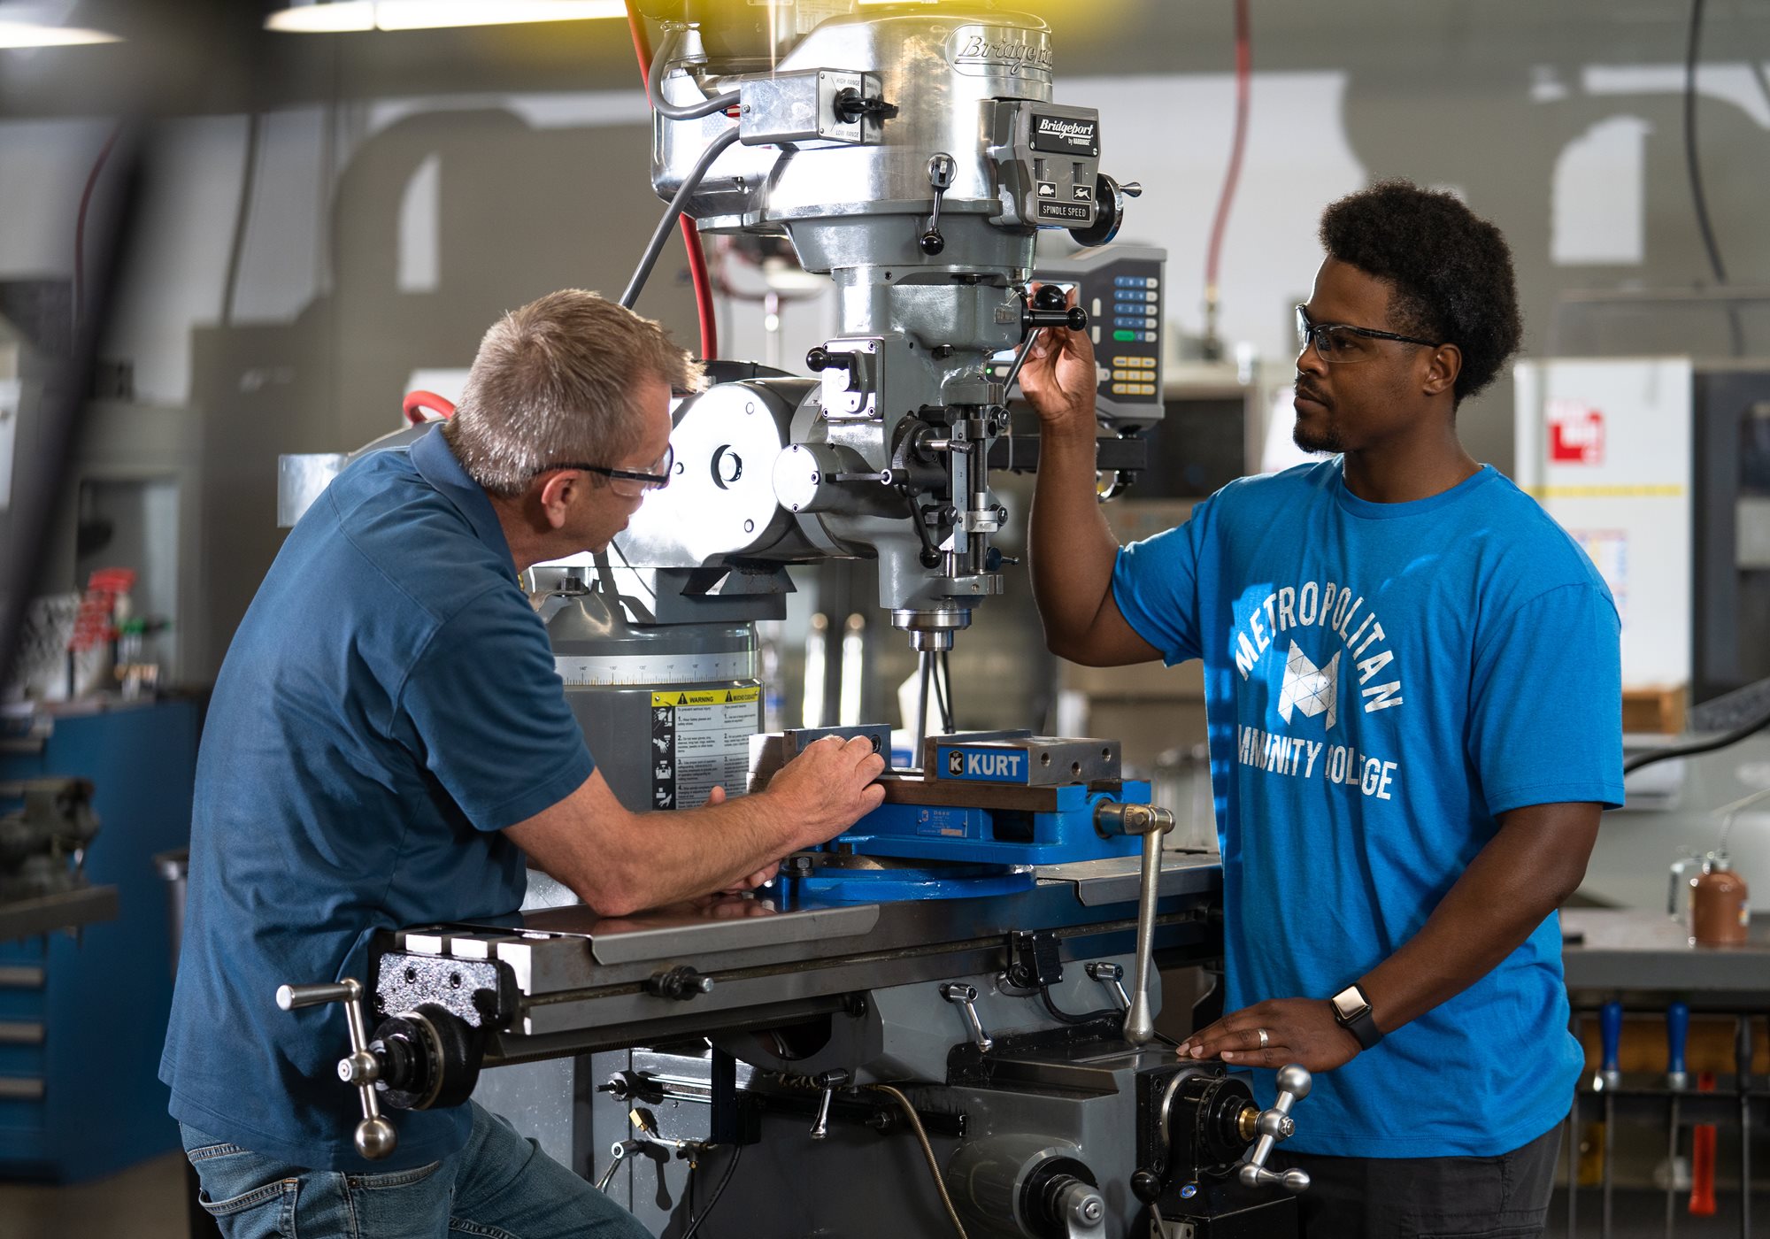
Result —
<instances>
[{"instance_id":1,"label":"short black afro hair of the man in the bright blue t-shirt","mask_svg":"<svg viewBox=\"0 0 1770 1239\"><path fill-rule=\"evenodd\" d=\"M1524 335L1512 248L1453 195L1379 181L1322 212L1328 257L1389 281L1395 329L1462 350L1455 400L1494 381Z\"/></svg>"}]
</instances>

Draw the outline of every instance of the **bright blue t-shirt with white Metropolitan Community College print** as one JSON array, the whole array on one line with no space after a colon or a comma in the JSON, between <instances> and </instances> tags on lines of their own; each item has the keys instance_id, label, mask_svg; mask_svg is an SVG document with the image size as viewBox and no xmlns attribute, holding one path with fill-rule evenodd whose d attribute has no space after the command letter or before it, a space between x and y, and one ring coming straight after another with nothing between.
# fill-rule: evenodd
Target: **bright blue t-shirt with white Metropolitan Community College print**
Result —
<instances>
[{"instance_id":1,"label":"bright blue t-shirt with white Metropolitan Community College print","mask_svg":"<svg viewBox=\"0 0 1770 1239\"><path fill-rule=\"evenodd\" d=\"M1370 503L1340 458L1230 483L1119 552L1113 596L1204 660L1225 1011L1326 998L1412 938L1499 816L1623 802L1618 616L1579 545L1483 467ZM1568 1112L1559 919L1317 1076L1297 1152L1496 1156ZM1273 1073L1255 1073L1273 1096Z\"/></svg>"}]
</instances>

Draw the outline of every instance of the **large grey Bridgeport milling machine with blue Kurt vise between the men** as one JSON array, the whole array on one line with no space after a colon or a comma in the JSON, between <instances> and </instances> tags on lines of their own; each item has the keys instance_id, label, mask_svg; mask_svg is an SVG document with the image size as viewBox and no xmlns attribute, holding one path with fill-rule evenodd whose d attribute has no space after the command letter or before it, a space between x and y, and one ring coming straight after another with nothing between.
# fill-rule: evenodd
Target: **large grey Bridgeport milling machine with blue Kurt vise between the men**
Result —
<instances>
[{"instance_id":1,"label":"large grey Bridgeport milling machine with blue Kurt vise between the men","mask_svg":"<svg viewBox=\"0 0 1770 1239\"><path fill-rule=\"evenodd\" d=\"M788 565L874 559L926 697L1002 591L989 469L1035 458L998 356L1090 329L1108 430L1161 416L1161 255L1094 248L1136 189L1099 172L1097 113L1051 101L1041 19L639 9L664 30L651 177L671 209L623 303L685 211L789 237L832 274L841 335L807 356L812 379L715 366L674 411L671 485L612 554L545 573L568 697L635 809L759 786L821 735L754 735L754 621L784 614ZM1041 228L1085 250L1034 294ZM1108 435L1103 466L1136 448ZM480 1085L683 1239L719 1200L727 1232L766 1235L1294 1234L1308 1179L1266 1159L1308 1073L1280 1071L1262 1110L1154 1030L1152 954L1221 952L1216 864L1163 855L1172 816L1117 742L922 733L920 768L889 772L878 811L761 897L611 922L536 883L508 919L382 935L366 979L283 986L285 1009L345 1009L358 1149L393 1149L388 1112Z\"/></svg>"}]
</instances>

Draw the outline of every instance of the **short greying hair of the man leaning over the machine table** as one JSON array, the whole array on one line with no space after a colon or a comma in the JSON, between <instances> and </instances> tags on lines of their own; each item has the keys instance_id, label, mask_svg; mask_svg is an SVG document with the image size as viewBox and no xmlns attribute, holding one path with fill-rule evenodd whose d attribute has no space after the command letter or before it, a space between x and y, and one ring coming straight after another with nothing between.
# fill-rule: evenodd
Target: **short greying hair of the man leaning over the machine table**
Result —
<instances>
[{"instance_id":1,"label":"short greying hair of the man leaning over the machine table","mask_svg":"<svg viewBox=\"0 0 1770 1239\"><path fill-rule=\"evenodd\" d=\"M554 462L614 464L644 434L639 384L701 386L701 365L651 319L582 289L492 324L442 434L467 476L522 494Z\"/></svg>"}]
</instances>

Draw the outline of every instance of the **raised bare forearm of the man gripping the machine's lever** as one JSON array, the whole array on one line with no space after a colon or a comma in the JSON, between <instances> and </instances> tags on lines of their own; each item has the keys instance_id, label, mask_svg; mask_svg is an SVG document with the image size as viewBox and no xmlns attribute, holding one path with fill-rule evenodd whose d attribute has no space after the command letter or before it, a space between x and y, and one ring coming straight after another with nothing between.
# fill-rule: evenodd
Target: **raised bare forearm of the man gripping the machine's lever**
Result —
<instances>
[{"instance_id":1,"label":"raised bare forearm of the man gripping the machine's lever","mask_svg":"<svg viewBox=\"0 0 1770 1239\"><path fill-rule=\"evenodd\" d=\"M1053 430L1039 444L1030 545L1032 596L1055 653L1074 657L1112 589L1117 540L1094 489L1092 427Z\"/></svg>"}]
</instances>

